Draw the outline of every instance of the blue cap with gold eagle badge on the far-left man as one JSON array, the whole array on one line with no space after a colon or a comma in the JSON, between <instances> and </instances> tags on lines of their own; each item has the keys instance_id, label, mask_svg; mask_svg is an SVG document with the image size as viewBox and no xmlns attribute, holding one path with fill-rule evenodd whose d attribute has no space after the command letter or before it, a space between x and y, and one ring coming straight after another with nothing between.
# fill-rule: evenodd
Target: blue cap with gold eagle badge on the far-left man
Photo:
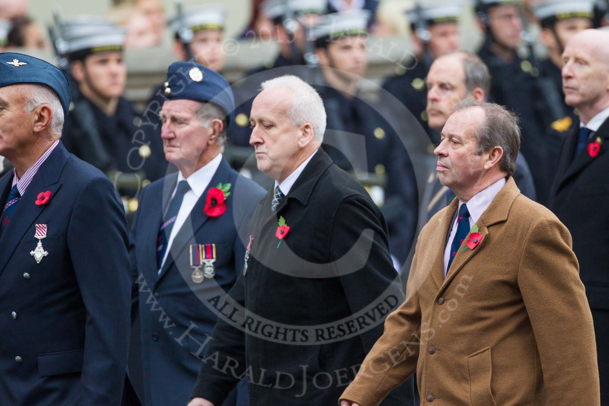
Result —
<instances>
[{"instance_id":1,"label":"blue cap with gold eagle badge on the far-left man","mask_svg":"<svg viewBox=\"0 0 609 406\"><path fill-rule=\"evenodd\" d=\"M14 83L42 83L51 86L62 102L63 116L68 115L72 100L68 79L51 63L30 55L3 52L0 54L0 87Z\"/></svg>"}]
</instances>

